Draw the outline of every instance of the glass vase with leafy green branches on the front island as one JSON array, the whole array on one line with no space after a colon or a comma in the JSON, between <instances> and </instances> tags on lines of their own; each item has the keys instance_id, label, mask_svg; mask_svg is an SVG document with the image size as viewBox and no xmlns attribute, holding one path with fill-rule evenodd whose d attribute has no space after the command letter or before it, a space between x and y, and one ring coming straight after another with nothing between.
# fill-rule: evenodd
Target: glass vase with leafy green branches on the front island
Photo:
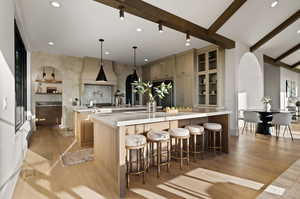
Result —
<instances>
[{"instance_id":1,"label":"glass vase with leafy green branches on the front island","mask_svg":"<svg viewBox=\"0 0 300 199\"><path fill-rule=\"evenodd\" d=\"M143 82L141 79L132 83L134 87L135 93L145 95L147 102L147 110L148 112L156 112L156 101L155 97L159 97L160 99L164 99L168 94L170 89L172 88L172 84L161 83L159 86L153 88L153 84L151 82Z\"/></svg>"}]
</instances>

